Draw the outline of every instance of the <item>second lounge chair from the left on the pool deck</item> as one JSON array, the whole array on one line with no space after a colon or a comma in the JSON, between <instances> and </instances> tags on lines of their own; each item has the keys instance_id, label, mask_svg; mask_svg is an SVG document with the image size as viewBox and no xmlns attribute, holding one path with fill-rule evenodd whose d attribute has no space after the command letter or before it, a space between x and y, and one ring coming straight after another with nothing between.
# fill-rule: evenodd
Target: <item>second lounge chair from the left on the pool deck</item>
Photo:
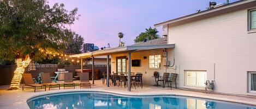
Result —
<instances>
[{"instance_id":1,"label":"second lounge chair from the left on the pool deck","mask_svg":"<svg viewBox=\"0 0 256 109\"><path fill-rule=\"evenodd\" d=\"M61 89L61 84L52 82L50 73L41 73L41 80L44 85L49 86L49 91L50 91L51 86L58 86L58 89Z\"/></svg>"}]
</instances>

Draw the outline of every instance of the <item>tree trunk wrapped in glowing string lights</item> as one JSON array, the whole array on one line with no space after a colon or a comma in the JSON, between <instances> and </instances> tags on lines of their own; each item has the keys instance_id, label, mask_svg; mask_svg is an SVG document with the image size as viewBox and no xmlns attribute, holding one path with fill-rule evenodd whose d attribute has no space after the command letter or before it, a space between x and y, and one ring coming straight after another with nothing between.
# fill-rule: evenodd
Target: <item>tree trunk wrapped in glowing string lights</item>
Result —
<instances>
[{"instance_id":1,"label":"tree trunk wrapped in glowing string lights","mask_svg":"<svg viewBox=\"0 0 256 109\"><path fill-rule=\"evenodd\" d=\"M29 57L27 57L25 61L22 61L22 59L15 60L17 68L14 70L14 76L11 80L11 85L8 90L19 89L22 74L24 73L25 68L28 66L29 62L31 62L31 59L29 59Z\"/></svg>"}]
</instances>

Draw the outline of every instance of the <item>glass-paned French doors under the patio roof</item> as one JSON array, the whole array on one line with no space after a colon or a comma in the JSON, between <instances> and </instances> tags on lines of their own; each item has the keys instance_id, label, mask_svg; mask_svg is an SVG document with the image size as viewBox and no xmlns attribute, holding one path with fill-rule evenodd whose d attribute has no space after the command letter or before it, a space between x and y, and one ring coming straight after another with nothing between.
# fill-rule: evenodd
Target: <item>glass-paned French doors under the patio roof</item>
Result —
<instances>
[{"instance_id":1,"label":"glass-paned French doors under the patio roof","mask_svg":"<svg viewBox=\"0 0 256 109\"><path fill-rule=\"evenodd\" d=\"M126 73L126 57L116 57L116 72L118 74Z\"/></svg>"}]
</instances>

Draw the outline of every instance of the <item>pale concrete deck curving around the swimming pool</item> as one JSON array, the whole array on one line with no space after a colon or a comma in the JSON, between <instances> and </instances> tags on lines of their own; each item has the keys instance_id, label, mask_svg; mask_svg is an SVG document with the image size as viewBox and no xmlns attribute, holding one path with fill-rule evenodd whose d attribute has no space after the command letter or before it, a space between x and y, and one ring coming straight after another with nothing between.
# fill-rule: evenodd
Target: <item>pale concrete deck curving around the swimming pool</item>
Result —
<instances>
[{"instance_id":1,"label":"pale concrete deck curving around the swimming pool","mask_svg":"<svg viewBox=\"0 0 256 109\"><path fill-rule=\"evenodd\" d=\"M222 101L229 101L229 102L238 102L241 104L249 104L256 106L256 97L253 96L245 96L239 97L235 95L225 95L225 94L206 94L202 92L194 92L194 91L184 91L181 89L170 89L169 87L155 87L144 85L143 88L132 88L132 92L128 92L127 88L124 87L117 87L117 86L110 86L106 87L106 85L102 84L101 80L96 80L95 84L92 88L81 88L76 86L75 89L73 87L68 87L66 89L59 90L58 88L51 88L51 91L44 91L44 89L38 89L36 92L33 89L18 89L16 91L6 91L9 86L0 86L0 108L5 109L13 109L13 108L29 108L27 105L27 100L32 97L36 97L38 95L44 94L51 94L51 93L58 93L58 92L73 92L73 91L99 91L99 92L108 92L108 93L116 93L116 94L123 94L123 95L181 95L187 97L195 97L195 98L206 98L212 100L222 100Z\"/></svg>"}]
</instances>

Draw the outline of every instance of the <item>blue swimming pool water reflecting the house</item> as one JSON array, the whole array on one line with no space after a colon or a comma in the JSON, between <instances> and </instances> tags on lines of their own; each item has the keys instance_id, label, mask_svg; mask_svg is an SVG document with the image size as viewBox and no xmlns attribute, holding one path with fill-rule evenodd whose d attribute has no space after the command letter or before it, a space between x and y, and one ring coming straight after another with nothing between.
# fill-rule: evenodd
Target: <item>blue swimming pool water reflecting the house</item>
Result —
<instances>
[{"instance_id":1,"label":"blue swimming pool water reflecting the house","mask_svg":"<svg viewBox=\"0 0 256 109\"><path fill-rule=\"evenodd\" d=\"M29 99L30 108L256 109L256 107L173 95L125 96L102 92L69 92Z\"/></svg>"}]
</instances>

